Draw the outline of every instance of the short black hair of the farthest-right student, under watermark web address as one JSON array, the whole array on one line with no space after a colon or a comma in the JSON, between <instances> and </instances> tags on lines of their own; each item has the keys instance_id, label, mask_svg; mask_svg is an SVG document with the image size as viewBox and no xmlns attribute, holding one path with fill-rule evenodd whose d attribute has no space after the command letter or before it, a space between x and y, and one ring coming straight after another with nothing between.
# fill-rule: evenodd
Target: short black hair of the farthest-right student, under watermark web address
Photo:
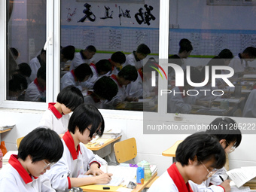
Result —
<instances>
[{"instance_id":1,"label":"short black hair of the farthest-right student, under watermark web address","mask_svg":"<svg viewBox=\"0 0 256 192\"><path fill-rule=\"evenodd\" d=\"M209 129L206 130L206 133L215 136L218 141L221 141L221 139L226 139L229 144L231 142L235 142L235 148L237 148L242 141L242 133L238 129L238 124L230 117L216 118L212 121L212 123L209 124Z\"/></svg>"}]
</instances>

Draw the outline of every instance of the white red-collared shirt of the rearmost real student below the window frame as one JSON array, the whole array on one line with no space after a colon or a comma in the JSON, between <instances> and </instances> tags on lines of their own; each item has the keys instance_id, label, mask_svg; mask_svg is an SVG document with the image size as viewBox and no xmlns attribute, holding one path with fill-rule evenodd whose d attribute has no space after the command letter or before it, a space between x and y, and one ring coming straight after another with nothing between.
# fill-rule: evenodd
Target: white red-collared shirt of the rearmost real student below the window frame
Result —
<instances>
[{"instance_id":1,"label":"white red-collared shirt of the rearmost real student below the window frame","mask_svg":"<svg viewBox=\"0 0 256 192\"><path fill-rule=\"evenodd\" d=\"M38 126L46 126L58 134L64 134L68 130L70 115L59 113L54 107L55 104L55 102L48 104L48 108L44 111Z\"/></svg>"}]
</instances>

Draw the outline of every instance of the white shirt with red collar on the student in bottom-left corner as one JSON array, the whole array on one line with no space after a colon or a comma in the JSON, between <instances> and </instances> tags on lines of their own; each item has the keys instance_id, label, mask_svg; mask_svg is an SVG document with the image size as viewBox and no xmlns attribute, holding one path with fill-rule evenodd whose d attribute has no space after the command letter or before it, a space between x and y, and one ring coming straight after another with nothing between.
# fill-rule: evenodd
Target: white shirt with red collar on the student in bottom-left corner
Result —
<instances>
[{"instance_id":1,"label":"white shirt with red collar on the student in bottom-left corner","mask_svg":"<svg viewBox=\"0 0 256 192\"><path fill-rule=\"evenodd\" d=\"M17 160L17 155L12 154L9 164L0 172L0 191L31 191L31 192L52 192L55 191L50 186L50 180L44 175L34 177L26 172L26 169Z\"/></svg>"}]
</instances>

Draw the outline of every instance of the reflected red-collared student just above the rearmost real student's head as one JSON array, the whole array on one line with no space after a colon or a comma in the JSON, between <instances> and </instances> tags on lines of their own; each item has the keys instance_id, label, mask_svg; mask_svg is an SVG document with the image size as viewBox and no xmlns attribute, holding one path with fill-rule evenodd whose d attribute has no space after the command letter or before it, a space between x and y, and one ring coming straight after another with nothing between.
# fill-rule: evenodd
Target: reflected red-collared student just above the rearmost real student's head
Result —
<instances>
[{"instance_id":1,"label":"reflected red-collared student just above the rearmost real student's head","mask_svg":"<svg viewBox=\"0 0 256 192\"><path fill-rule=\"evenodd\" d=\"M87 87L84 82L87 81L92 75L93 72L92 69L90 69L90 66L87 63L83 63L76 69L63 75L63 77L60 79L60 89L62 90L64 87L74 85L81 91L86 90Z\"/></svg>"}]
</instances>

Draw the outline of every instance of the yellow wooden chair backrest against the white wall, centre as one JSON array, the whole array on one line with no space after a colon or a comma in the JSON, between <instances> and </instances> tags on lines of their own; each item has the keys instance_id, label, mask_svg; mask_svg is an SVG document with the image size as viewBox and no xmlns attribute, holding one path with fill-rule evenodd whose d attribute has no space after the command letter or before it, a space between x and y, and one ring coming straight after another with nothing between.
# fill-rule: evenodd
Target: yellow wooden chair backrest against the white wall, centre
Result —
<instances>
[{"instance_id":1,"label":"yellow wooden chair backrest against the white wall, centre","mask_svg":"<svg viewBox=\"0 0 256 192\"><path fill-rule=\"evenodd\" d=\"M118 163L134 160L137 156L137 145L135 138L116 142L114 144L114 155Z\"/></svg>"}]
</instances>

